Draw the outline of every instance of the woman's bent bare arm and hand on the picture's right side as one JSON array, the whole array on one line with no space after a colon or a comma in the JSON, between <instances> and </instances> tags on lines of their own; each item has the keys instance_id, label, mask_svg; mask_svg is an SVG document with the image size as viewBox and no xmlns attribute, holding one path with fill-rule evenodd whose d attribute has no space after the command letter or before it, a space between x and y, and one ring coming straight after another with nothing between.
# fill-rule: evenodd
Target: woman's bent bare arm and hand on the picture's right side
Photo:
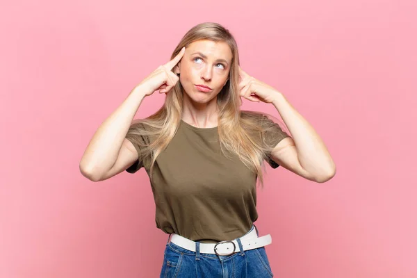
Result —
<instances>
[{"instance_id":1,"label":"woman's bent bare arm and hand on the picture's right side","mask_svg":"<svg viewBox=\"0 0 417 278\"><path fill-rule=\"evenodd\" d=\"M325 143L313 127L270 85L255 79L239 67L239 94L250 101L273 104L293 138L279 141L271 152L273 161L311 181L323 183L336 174L336 165Z\"/></svg>"}]
</instances>

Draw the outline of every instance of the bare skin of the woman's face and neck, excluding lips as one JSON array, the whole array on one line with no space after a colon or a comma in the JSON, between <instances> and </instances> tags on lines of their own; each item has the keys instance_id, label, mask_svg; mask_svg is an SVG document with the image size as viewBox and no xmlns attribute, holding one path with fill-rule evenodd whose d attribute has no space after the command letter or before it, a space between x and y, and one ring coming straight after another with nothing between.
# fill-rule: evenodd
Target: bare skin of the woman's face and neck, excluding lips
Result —
<instances>
[{"instance_id":1,"label":"bare skin of the woman's face and neck, excluding lips","mask_svg":"<svg viewBox=\"0 0 417 278\"><path fill-rule=\"evenodd\" d=\"M218 125L216 99L229 79L232 55L225 42L198 40L188 45L175 69L184 88L183 121L200 128ZM195 85L212 90L200 92Z\"/></svg>"}]
</instances>

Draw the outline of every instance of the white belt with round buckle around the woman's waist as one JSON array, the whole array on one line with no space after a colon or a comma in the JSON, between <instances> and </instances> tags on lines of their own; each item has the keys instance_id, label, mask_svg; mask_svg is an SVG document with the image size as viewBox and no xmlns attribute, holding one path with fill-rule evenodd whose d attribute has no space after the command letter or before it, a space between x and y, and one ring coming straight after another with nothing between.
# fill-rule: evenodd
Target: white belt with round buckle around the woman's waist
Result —
<instances>
[{"instance_id":1,"label":"white belt with round buckle around the woman's waist","mask_svg":"<svg viewBox=\"0 0 417 278\"><path fill-rule=\"evenodd\" d=\"M179 247L183 247L186 250L196 252L195 241L184 238L179 234L172 234L171 242L175 243ZM243 250L252 250L272 243L270 234L266 236L258 237L256 230L252 229L248 234L240 238ZM240 252L238 241L235 240L224 240L220 243L200 243L199 252L205 254L218 254L219 256L229 256L236 252Z\"/></svg>"}]
</instances>

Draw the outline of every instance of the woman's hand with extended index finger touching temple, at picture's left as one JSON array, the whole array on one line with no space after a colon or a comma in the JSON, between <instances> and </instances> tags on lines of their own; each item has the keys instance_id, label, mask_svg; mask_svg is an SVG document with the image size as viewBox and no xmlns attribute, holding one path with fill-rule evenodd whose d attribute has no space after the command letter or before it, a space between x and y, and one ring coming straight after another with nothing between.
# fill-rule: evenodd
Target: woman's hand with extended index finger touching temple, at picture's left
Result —
<instances>
[{"instance_id":1,"label":"woman's hand with extended index finger touching temple, at picture's left","mask_svg":"<svg viewBox=\"0 0 417 278\"><path fill-rule=\"evenodd\" d=\"M145 88L145 96L152 95L156 90L159 90L160 93L169 92L179 81L177 74L174 74L171 70L179 63L185 51L186 48L183 47L177 56L165 65L157 67L156 70L143 79L136 88Z\"/></svg>"}]
</instances>

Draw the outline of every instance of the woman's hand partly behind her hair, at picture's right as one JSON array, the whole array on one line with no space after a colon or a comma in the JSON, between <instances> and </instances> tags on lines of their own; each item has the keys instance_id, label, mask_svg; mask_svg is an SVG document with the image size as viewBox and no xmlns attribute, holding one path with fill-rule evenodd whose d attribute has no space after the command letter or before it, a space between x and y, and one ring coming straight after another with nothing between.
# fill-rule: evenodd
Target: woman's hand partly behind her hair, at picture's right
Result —
<instances>
[{"instance_id":1,"label":"woman's hand partly behind her hair, at picture's right","mask_svg":"<svg viewBox=\"0 0 417 278\"><path fill-rule=\"evenodd\" d=\"M263 101L267 104L272 103L274 99L279 95L279 92L272 88L270 85L255 79L239 67L239 94L240 97L245 97L250 101Z\"/></svg>"}]
</instances>

